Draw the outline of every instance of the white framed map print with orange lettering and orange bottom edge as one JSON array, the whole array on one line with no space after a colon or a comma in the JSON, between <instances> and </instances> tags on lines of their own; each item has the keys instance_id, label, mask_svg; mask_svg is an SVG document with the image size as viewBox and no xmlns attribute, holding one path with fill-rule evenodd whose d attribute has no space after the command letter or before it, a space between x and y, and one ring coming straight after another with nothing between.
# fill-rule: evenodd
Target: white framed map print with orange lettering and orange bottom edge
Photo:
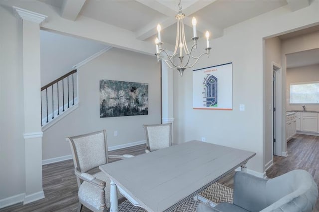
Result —
<instances>
[{"instance_id":1,"label":"white framed map print with orange lettering and orange bottom edge","mask_svg":"<svg viewBox=\"0 0 319 212\"><path fill-rule=\"evenodd\" d=\"M193 109L233 109L233 63L193 70Z\"/></svg>"}]
</instances>

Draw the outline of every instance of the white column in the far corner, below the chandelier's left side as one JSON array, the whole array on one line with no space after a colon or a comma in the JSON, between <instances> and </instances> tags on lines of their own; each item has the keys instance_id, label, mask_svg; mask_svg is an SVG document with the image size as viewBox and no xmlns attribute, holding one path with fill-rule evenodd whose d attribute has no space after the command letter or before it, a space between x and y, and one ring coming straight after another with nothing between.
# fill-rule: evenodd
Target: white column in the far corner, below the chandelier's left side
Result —
<instances>
[{"instance_id":1,"label":"white column in the far corner, below the chandelier's left side","mask_svg":"<svg viewBox=\"0 0 319 212\"><path fill-rule=\"evenodd\" d=\"M174 132L174 103L173 103L173 70L164 61L161 61L162 78L162 123L172 123L172 134ZM172 138L174 136L172 135ZM174 139L172 141L174 143Z\"/></svg>"}]
</instances>

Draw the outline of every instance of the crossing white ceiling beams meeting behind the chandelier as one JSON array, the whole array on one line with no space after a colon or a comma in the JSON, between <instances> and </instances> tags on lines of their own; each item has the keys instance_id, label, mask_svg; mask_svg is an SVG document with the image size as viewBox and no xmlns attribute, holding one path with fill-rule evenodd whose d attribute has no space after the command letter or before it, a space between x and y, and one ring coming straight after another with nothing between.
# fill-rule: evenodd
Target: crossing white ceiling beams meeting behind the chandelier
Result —
<instances>
[{"instance_id":1,"label":"crossing white ceiling beams meeting behind the chandelier","mask_svg":"<svg viewBox=\"0 0 319 212\"><path fill-rule=\"evenodd\" d=\"M156 34L156 25L158 23L160 23L162 29L168 28L169 26L176 23L176 19L175 19L176 11L171 9L167 5L164 5L165 1L157 1L157 0L152 0L152 1L151 0L135 0L135 1L149 7L155 11L158 11L158 12L160 12L163 15L168 17L168 18L163 19L162 21L149 23L148 25L139 29L135 33L136 39L146 40L149 37ZM187 7L185 9L183 9L183 13L193 14L193 13L197 12L198 10L208 6L209 4L211 4L215 1L216 0L205 0L205 1L195 0L191 4L187 4ZM185 17L184 24L192 27L191 20L189 17ZM211 25L203 23L203 22L198 23L197 30L201 33L204 33L206 30L211 30L211 32L213 32L214 38L223 36L223 29L211 26Z\"/></svg>"}]
</instances>

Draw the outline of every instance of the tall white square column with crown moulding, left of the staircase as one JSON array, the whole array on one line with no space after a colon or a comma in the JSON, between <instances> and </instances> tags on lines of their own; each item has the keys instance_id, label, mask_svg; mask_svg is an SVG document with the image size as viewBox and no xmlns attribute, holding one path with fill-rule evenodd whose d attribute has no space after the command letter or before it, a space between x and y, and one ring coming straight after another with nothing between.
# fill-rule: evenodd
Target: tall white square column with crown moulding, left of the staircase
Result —
<instances>
[{"instance_id":1,"label":"tall white square column with crown moulding, left of the staircase","mask_svg":"<svg viewBox=\"0 0 319 212\"><path fill-rule=\"evenodd\" d=\"M42 188L42 129L40 23L47 16L13 7L22 18L23 105L25 144L24 204L44 198Z\"/></svg>"}]
</instances>

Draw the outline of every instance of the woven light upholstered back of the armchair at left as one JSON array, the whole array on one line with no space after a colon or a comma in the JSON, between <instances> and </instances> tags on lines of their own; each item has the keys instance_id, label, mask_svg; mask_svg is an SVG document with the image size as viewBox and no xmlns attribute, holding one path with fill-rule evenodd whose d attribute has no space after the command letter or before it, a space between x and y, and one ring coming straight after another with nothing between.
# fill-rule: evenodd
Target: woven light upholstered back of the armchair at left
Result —
<instances>
[{"instance_id":1,"label":"woven light upholstered back of the armchair at left","mask_svg":"<svg viewBox=\"0 0 319 212\"><path fill-rule=\"evenodd\" d=\"M80 172L108 162L106 131L67 137L73 155L74 167Z\"/></svg>"}]
</instances>

